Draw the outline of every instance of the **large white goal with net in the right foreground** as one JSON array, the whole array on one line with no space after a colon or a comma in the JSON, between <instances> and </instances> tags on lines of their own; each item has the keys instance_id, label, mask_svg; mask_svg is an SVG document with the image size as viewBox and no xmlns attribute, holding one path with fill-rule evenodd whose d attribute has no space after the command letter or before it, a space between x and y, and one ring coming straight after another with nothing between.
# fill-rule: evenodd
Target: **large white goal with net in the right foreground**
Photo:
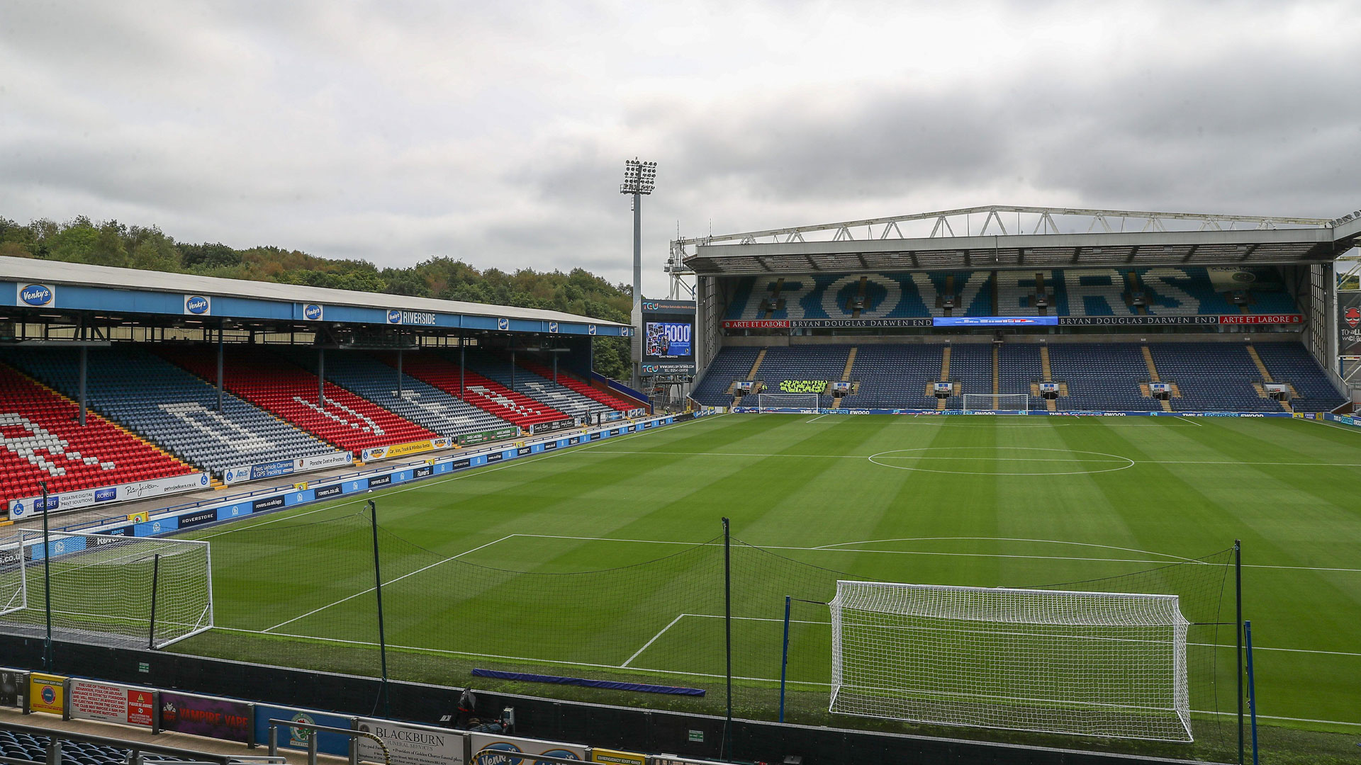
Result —
<instances>
[{"instance_id":1,"label":"large white goal with net in the right foreground","mask_svg":"<svg viewBox=\"0 0 1361 765\"><path fill-rule=\"evenodd\" d=\"M1176 595L838 581L832 712L1191 740Z\"/></svg>"}]
</instances>

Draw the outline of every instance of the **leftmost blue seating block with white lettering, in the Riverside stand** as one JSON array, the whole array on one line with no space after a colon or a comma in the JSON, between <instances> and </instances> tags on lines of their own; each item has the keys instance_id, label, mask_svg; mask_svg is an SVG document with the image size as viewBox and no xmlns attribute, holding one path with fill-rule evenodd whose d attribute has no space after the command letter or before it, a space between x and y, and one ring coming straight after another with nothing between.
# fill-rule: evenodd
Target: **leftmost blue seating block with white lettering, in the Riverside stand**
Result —
<instances>
[{"instance_id":1,"label":"leftmost blue seating block with white lettering, in the Riverside stand","mask_svg":"<svg viewBox=\"0 0 1361 765\"><path fill-rule=\"evenodd\" d=\"M69 397L79 395L75 350L8 350L0 355ZM222 471L306 457L335 448L142 350L91 348L86 400L94 411L182 461Z\"/></svg>"}]
</instances>

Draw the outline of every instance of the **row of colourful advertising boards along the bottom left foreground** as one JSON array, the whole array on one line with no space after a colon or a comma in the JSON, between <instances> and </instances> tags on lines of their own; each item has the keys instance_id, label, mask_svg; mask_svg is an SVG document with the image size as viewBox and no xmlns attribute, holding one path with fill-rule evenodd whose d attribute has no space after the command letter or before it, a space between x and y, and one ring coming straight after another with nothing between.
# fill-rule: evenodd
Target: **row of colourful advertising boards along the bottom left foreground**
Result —
<instances>
[{"instance_id":1,"label":"row of colourful advertising boards along the bottom left foreground","mask_svg":"<svg viewBox=\"0 0 1361 765\"><path fill-rule=\"evenodd\" d=\"M514 709L499 719L467 719L464 728L426 726L376 716L279 706L225 696L105 682L0 667L0 706L24 715L91 720L139 732L184 734L242 745L265 746L268 755L204 753L184 747L95 736L69 730L0 721L0 762L12 765L106 765L109 762L177 762L203 765L282 765L282 749L344 757L351 765L479 765L504 764L513 755L528 762L615 762L622 765L689 765L713 762L675 754L648 754L544 740L514 734ZM453 716L448 721L455 723ZM64 746L71 742L75 746ZM67 755L63 757L65 749ZM33 751L42 758L31 758ZM29 757L8 757L24 753ZM150 755L150 757L148 757Z\"/></svg>"}]
</instances>

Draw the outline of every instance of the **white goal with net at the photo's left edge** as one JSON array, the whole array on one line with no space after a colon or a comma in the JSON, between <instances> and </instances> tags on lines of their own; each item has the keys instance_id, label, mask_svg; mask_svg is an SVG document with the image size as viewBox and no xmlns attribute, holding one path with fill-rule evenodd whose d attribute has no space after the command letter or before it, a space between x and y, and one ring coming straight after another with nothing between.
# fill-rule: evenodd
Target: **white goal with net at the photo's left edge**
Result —
<instances>
[{"instance_id":1,"label":"white goal with net at the photo's left edge","mask_svg":"<svg viewBox=\"0 0 1361 765\"><path fill-rule=\"evenodd\" d=\"M50 581L45 576L50 574ZM0 632L163 648L212 628L207 542L19 531L0 538Z\"/></svg>"}]
</instances>

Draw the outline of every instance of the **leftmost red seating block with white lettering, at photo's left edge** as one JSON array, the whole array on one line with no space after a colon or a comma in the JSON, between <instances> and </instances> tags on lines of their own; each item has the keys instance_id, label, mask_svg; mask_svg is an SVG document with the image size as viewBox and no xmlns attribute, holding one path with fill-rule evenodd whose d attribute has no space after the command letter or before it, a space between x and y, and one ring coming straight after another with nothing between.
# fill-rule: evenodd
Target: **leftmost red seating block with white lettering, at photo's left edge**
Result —
<instances>
[{"instance_id":1,"label":"leftmost red seating block with white lettering, at photo's left edge","mask_svg":"<svg viewBox=\"0 0 1361 765\"><path fill-rule=\"evenodd\" d=\"M0 366L0 501L193 472L95 412L84 427L71 399Z\"/></svg>"}]
</instances>

